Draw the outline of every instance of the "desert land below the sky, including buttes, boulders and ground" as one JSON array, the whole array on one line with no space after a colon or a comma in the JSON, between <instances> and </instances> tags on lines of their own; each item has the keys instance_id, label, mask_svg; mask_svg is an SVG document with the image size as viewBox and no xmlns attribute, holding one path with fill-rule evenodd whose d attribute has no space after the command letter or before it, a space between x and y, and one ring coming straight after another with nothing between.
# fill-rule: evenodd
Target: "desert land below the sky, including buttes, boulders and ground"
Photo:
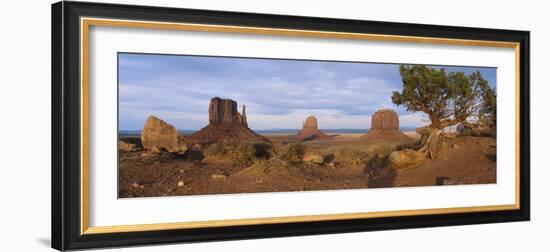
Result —
<instances>
[{"instance_id":1,"label":"desert land below the sky, including buttes, boulders and ground","mask_svg":"<svg viewBox=\"0 0 550 252\"><path fill-rule=\"evenodd\" d=\"M271 135L252 131L233 100L212 98L208 112L209 124L192 134L150 116L140 136L120 137L118 196L496 182L494 137L446 133L429 154L420 133L399 130L391 109L376 111L367 133L327 134L310 116L296 134Z\"/></svg>"}]
</instances>

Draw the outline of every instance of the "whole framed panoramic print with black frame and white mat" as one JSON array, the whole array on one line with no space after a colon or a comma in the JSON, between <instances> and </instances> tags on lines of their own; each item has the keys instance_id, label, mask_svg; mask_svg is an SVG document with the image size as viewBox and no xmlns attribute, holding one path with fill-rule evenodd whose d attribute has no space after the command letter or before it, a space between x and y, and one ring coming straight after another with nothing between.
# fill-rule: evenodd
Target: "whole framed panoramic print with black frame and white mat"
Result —
<instances>
[{"instance_id":1,"label":"whole framed panoramic print with black frame and white mat","mask_svg":"<svg viewBox=\"0 0 550 252\"><path fill-rule=\"evenodd\" d=\"M58 250L529 220L529 32L52 6Z\"/></svg>"}]
</instances>

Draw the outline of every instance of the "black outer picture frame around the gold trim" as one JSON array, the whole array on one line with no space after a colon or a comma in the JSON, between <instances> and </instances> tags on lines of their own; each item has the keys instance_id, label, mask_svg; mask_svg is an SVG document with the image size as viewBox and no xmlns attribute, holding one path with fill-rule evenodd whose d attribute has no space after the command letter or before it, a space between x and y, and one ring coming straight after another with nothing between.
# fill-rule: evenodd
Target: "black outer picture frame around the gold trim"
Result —
<instances>
[{"instance_id":1,"label":"black outer picture frame around the gold trim","mask_svg":"<svg viewBox=\"0 0 550 252\"><path fill-rule=\"evenodd\" d=\"M519 43L519 209L105 234L81 233L80 17L321 30ZM529 32L102 3L52 5L52 247L87 249L253 239L530 219Z\"/></svg>"}]
</instances>

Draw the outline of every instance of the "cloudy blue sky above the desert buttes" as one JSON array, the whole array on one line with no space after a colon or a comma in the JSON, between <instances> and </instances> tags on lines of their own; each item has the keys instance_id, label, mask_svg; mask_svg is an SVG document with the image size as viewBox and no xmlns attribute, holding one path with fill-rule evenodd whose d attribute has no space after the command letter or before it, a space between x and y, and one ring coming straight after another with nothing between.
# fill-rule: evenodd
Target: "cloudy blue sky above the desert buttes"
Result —
<instances>
[{"instance_id":1,"label":"cloudy blue sky above the desert buttes","mask_svg":"<svg viewBox=\"0 0 550 252\"><path fill-rule=\"evenodd\" d=\"M426 125L423 113L391 103L401 90L398 64L119 53L119 128L138 130L155 115L181 130L208 123L218 96L246 105L252 129L296 129L315 115L323 129L368 129L371 114L393 108L401 127ZM479 70L492 86L495 68Z\"/></svg>"}]
</instances>

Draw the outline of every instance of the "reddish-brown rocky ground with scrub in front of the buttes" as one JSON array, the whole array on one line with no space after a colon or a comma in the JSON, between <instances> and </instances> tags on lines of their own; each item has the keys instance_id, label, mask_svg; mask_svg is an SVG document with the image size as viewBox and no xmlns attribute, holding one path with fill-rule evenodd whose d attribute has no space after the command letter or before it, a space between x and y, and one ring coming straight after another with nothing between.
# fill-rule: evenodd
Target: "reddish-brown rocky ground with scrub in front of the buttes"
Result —
<instances>
[{"instance_id":1,"label":"reddish-brown rocky ground with scrub in front of the buttes","mask_svg":"<svg viewBox=\"0 0 550 252\"><path fill-rule=\"evenodd\" d=\"M496 182L494 138L445 137L436 159L395 168L387 156L405 143L360 134L298 143L295 136L258 142L193 145L184 155L150 153L139 139L119 153L118 196L229 194ZM410 140L410 142L414 142Z\"/></svg>"}]
</instances>

